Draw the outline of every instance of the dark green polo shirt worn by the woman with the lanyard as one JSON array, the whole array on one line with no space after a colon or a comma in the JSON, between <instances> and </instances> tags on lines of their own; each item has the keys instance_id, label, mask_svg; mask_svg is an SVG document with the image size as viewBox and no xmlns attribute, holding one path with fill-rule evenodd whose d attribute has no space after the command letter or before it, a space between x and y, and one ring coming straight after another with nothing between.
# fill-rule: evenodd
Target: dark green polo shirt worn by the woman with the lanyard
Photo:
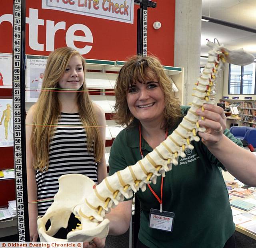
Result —
<instances>
[{"instance_id":1,"label":"dark green polo shirt worn by the woman with the lanyard","mask_svg":"<svg viewBox=\"0 0 256 248\"><path fill-rule=\"evenodd\" d=\"M182 113L186 114L188 108L182 106ZM168 135L175 128L168 130ZM224 134L242 146L242 142L229 130L226 129ZM164 178L163 210L175 214L172 232L148 227L150 209L160 209L160 204L148 187L145 192L137 192L142 210L138 237L150 248L223 248L234 233L228 191L220 170L224 166L201 140L192 142L192 145L194 150L186 150L186 157L179 158L178 165L173 165ZM151 151L152 148L142 138L143 155ZM140 159L138 126L126 128L118 134L111 147L109 174ZM157 178L155 185L151 184L159 197L160 184L161 177Z\"/></svg>"}]
</instances>

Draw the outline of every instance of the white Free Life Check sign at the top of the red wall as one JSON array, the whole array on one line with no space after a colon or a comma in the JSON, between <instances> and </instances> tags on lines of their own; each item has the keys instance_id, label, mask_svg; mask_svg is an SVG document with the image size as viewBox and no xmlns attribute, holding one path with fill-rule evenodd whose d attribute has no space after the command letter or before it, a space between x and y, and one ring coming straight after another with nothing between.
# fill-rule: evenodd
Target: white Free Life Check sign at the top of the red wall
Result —
<instances>
[{"instance_id":1,"label":"white Free Life Check sign at the top of the red wall","mask_svg":"<svg viewBox=\"0 0 256 248\"><path fill-rule=\"evenodd\" d=\"M134 0L42 0L42 9L133 24Z\"/></svg>"}]
</instances>

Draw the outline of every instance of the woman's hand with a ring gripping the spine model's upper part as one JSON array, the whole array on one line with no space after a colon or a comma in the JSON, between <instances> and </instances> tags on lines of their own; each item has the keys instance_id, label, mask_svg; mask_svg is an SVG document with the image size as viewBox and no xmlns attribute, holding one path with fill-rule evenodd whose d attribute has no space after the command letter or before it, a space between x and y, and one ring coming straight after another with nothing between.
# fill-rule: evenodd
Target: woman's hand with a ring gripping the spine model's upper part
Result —
<instances>
[{"instance_id":1,"label":"woman's hand with a ring gripping the spine model's upper part","mask_svg":"<svg viewBox=\"0 0 256 248\"><path fill-rule=\"evenodd\" d=\"M196 113L204 117L204 120L198 121L201 127L206 128L205 132L198 132L202 142L207 147L217 144L222 139L223 131L226 129L226 116L223 108L212 104L204 104L204 111L198 108Z\"/></svg>"}]
</instances>

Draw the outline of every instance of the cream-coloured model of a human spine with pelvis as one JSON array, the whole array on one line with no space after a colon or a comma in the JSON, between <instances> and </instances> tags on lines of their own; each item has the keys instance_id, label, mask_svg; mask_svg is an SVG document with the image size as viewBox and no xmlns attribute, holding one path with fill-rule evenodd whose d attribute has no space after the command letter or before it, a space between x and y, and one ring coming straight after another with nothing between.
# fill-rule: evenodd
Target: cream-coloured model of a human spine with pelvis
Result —
<instances>
[{"instance_id":1,"label":"cream-coloured model of a human spine with pelvis","mask_svg":"<svg viewBox=\"0 0 256 248\"><path fill-rule=\"evenodd\" d=\"M94 237L106 237L109 221L104 219L105 214L124 198L131 198L133 192L140 189L144 192L146 184L151 182L155 184L157 176L165 176L165 172L172 169L172 164L178 164L179 156L182 158L186 156L184 154L186 148L194 149L190 144L191 141L199 141L197 132L205 131L198 124L200 116L196 114L196 109L204 110L204 103L215 103L216 78L229 54L227 49L218 44L208 42L207 45L211 50L208 62L196 82L192 106L176 130L145 158L108 176L98 185L79 174L61 176L60 188L52 206L42 218L38 218L40 240L56 241L52 236L60 227L67 226L71 212L81 224L68 233L66 241L90 241ZM245 55L246 53L242 51L239 56ZM239 59L239 56L234 60ZM246 56L248 56L248 63L254 60L254 57L248 54ZM51 220L51 226L46 231L45 223L48 219Z\"/></svg>"}]
</instances>

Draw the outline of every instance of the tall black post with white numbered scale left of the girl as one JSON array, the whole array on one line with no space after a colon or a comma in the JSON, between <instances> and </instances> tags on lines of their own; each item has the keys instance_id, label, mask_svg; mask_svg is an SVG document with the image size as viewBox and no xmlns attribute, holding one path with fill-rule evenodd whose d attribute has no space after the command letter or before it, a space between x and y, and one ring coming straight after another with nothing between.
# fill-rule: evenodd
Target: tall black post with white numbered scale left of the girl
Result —
<instances>
[{"instance_id":1,"label":"tall black post with white numbered scale left of the girl","mask_svg":"<svg viewBox=\"0 0 256 248\"><path fill-rule=\"evenodd\" d=\"M29 241L25 135L25 0L13 2L13 128L17 228L20 242Z\"/></svg>"}]
</instances>

